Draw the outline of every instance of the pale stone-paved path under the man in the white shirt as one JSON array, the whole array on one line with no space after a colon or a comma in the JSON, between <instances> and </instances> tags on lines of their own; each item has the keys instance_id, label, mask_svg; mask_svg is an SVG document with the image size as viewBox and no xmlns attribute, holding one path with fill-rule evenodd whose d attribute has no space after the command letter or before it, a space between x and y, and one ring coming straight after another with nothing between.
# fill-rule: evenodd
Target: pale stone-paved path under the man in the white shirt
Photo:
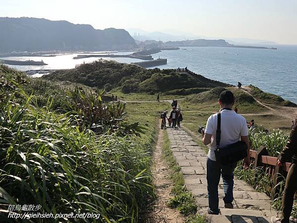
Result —
<instances>
[{"instance_id":1,"label":"pale stone-paved path under the man in the white shirt","mask_svg":"<svg viewBox=\"0 0 297 223\"><path fill-rule=\"evenodd\" d=\"M198 214L207 214L206 153L182 129L167 128L171 150L182 169L185 184L196 197ZM276 212L264 193L256 192L245 181L234 179L234 209L224 208L222 179L219 183L219 207L222 215L206 215L213 223L270 223Z\"/></svg>"}]
</instances>

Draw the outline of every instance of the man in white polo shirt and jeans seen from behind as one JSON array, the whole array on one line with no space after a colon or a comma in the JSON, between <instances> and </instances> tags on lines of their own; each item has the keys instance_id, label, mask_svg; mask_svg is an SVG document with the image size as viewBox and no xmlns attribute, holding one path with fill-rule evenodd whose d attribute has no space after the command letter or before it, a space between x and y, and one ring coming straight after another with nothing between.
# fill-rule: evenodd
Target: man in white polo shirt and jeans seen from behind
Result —
<instances>
[{"instance_id":1,"label":"man in white polo shirt and jeans seen from behind","mask_svg":"<svg viewBox=\"0 0 297 223\"><path fill-rule=\"evenodd\" d=\"M246 119L232 111L234 105L234 95L231 91L223 91L219 97L220 114L221 114L221 140L220 148L238 142L239 140L247 144L247 157L244 159L245 168L249 167L249 142ZM223 178L224 188L224 203L225 208L233 209L233 185L234 185L234 169L236 163L222 165L216 160L215 150L216 146L216 130L218 122L218 113L211 115L206 123L205 131L202 132L202 142L204 145L210 143L210 149L207 155L207 193L208 193L208 214L218 215L219 198L218 198L218 184L220 177Z\"/></svg>"}]
</instances>

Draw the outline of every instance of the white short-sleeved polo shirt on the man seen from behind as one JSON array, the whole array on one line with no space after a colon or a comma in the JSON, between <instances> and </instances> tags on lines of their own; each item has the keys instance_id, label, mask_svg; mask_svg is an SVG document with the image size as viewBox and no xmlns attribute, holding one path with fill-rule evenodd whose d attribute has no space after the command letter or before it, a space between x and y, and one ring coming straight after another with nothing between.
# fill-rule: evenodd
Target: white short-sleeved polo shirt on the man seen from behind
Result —
<instances>
[{"instance_id":1,"label":"white short-sleeved polo shirt on the man seen from behind","mask_svg":"<svg viewBox=\"0 0 297 223\"><path fill-rule=\"evenodd\" d=\"M214 150L216 149L217 115L217 113L211 115L208 118L205 127L205 133L212 135L210 149L207 156L213 161L216 161ZM221 148L236 143L240 140L240 136L247 135L247 121L242 115L230 110L221 111Z\"/></svg>"}]
</instances>

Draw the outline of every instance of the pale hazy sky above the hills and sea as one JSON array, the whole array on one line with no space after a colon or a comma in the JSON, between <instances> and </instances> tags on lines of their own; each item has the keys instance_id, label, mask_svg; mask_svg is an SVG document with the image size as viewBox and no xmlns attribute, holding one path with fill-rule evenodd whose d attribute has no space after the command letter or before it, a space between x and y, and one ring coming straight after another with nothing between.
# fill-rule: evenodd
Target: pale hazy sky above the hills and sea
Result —
<instances>
[{"instance_id":1,"label":"pale hazy sky above the hills and sea","mask_svg":"<svg viewBox=\"0 0 297 223\"><path fill-rule=\"evenodd\" d=\"M0 16L297 44L297 0L0 0Z\"/></svg>"}]
</instances>

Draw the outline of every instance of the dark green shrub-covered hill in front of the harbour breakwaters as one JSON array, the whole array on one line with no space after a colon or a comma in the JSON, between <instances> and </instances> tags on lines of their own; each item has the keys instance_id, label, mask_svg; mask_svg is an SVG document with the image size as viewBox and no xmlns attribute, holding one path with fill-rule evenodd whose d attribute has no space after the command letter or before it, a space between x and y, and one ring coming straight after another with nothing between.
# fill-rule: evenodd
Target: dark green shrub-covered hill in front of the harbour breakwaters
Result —
<instances>
[{"instance_id":1,"label":"dark green shrub-covered hill in front of the harbour breakwaters","mask_svg":"<svg viewBox=\"0 0 297 223\"><path fill-rule=\"evenodd\" d=\"M133 64L104 60L82 64L74 69L57 70L43 76L43 78L81 83L91 87L105 88L106 90L120 87L124 93L156 93L181 89L180 93L186 94L187 92L205 91L205 88L231 86L207 79L201 75L180 74L173 69L145 69ZM197 88L203 89L199 90ZM185 91L185 89L190 90ZM178 92L176 91L176 93Z\"/></svg>"}]
</instances>

